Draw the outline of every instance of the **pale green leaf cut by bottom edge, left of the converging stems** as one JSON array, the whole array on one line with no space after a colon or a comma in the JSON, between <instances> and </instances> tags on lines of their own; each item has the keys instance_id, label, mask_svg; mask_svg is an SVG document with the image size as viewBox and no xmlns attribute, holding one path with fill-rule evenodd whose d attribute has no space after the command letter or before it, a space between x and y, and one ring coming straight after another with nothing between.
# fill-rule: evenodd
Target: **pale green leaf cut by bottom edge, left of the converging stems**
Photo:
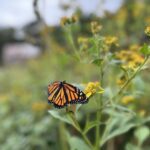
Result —
<instances>
[{"instance_id":1,"label":"pale green leaf cut by bottom edge, left of the converging stems","mask_svg":"<svg viewBox=\"0 0 150 150\"><path fill-rule=\"evenodd\" d=\"M68 142L70 145L70 150L90 150L88 145L79 137L69 136Z\"/></svg>"}]
</instances>

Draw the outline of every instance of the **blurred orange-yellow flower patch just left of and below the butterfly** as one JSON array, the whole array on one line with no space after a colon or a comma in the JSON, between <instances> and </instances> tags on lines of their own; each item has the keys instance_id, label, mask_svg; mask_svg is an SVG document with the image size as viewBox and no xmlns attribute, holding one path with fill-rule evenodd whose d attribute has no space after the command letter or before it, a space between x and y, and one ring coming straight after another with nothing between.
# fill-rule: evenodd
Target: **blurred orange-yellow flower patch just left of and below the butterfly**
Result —
<instances>
[{"instance_id":1,"label":"blurred orange-yellow flower patch just left of and below the butterfly","mask_svg":"<svg viewBox=\"0 0 150 150\"><path fill-rule=\"evenodd\" d=\"M43 102L34 102L32 104L32 110L33 111L43 111L47 109L47 103L43 103Z\"/></svg>"}]
</instances>

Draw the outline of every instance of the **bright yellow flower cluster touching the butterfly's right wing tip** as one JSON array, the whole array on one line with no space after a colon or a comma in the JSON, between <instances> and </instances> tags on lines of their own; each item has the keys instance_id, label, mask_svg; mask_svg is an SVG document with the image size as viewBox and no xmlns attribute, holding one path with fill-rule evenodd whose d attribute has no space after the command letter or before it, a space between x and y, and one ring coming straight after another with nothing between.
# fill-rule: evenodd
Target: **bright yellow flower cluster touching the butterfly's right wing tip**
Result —
<instances>
[{"instance_id":1,"label":"bright yellow flower cluster touching the butterfly's right wing tip","mask_svg":"<svg viewBox=\"0 0 150 150\"><path fill-rule=\"evenodd\" d=\"M103 92L104 89L100 86L99 82L89 82L84 90L84 93L86 94L87 97L90 97L95 93L103 93Z\"/></svg>"}]
</instances>

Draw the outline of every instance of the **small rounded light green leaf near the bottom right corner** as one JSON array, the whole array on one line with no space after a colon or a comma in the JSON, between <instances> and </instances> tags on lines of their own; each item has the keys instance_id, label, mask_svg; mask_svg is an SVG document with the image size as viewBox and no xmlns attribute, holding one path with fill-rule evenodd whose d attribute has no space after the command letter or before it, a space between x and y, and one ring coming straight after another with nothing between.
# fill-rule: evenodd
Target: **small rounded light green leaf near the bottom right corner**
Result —
<instances>
[{"instance_id":1,"label":"small rounded light green leaf near the bottom right corner","mask_svg":"<svg viewBox=\"0 0 150 150\"><path fill-rule=\"evenodd\" d=\"M150 129L146 126L139 127L135 131L134 135L137 138L139 145L142 145L143 142L150 136Z\"/></svg>"}]
</instances>

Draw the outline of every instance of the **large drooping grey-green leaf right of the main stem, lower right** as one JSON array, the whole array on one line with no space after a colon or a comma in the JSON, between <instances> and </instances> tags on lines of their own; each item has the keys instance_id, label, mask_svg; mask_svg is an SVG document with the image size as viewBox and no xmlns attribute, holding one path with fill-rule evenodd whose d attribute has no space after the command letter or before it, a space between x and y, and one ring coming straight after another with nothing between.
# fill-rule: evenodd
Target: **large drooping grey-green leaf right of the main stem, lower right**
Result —
<instances>
[{"instance_id":1,"label":"large drooping grey-green leaf right of the main stem, lower right","mask_svg":"<svg viewBox=\"0 0 150 150\"><path fill-rule=\"evenodd\" d=\"M105 144L108 140L128 132L131 128L137 127L141 124L149 122L149 118L142 119L138 116L132 115L131 113L122 112L128 111L123 108L123 110L114 110L109 108L106 113L111 117L107 122L106 129L100 141L101 146ZM122 109L121 107L119 109Z\"/></svg>"}]
</instances>

